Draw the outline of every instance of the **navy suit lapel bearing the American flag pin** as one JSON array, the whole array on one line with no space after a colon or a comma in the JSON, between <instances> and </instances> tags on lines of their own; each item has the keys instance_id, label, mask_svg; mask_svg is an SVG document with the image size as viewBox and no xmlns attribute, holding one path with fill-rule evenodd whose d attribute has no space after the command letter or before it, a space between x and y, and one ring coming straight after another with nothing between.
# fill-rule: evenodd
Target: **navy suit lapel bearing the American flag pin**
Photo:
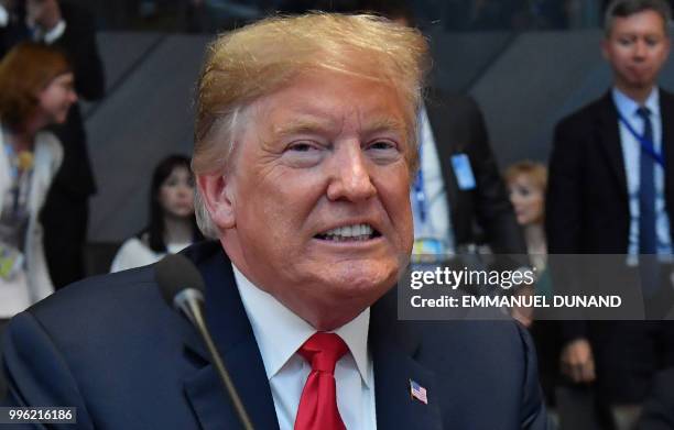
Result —
<instances>
[{"instance_id":1,"label":"navy suit lapel bearing the American flag pin","mask_svg":"<svg viewBox=\"0 0 674 430\"><path fill-rule=\"evenodd\" d=\"M418 337L398 321L394 291L372 307L370 348L374 363L378 429L442 429L439 388L435 375L414 355ZM410 379L427 392L428 404L412 398Z\"/></svg>"}]
</instances>

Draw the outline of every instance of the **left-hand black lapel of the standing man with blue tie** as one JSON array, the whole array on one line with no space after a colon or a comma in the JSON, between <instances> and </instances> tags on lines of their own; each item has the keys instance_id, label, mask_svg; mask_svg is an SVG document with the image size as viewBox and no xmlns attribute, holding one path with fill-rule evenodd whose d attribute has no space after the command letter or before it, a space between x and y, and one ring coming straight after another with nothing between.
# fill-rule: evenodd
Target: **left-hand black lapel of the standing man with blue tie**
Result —
<instances>
[{"instance_id":1,"label":"left-hand black lapel of the standing man with blue tie","mask_svg":"<svg viewBox=\"0 0 674 430\"><path fill-rule=\"evenodd\" d=\"M619 189L627 199L627 176L624 173L624 159L622 157L622 145L618 126L618 111L616 110L616 104L613 103L610 91L601 99L599 107L599 118L597 122L598 141L605 151L616 180L618 180Z\"/></svg>"}]
</instances>

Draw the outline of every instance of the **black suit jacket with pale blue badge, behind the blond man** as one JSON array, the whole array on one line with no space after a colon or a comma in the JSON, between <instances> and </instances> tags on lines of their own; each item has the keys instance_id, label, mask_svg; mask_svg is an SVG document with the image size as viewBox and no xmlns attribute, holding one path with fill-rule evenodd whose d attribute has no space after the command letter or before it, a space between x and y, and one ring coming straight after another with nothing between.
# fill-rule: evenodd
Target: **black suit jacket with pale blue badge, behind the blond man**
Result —
<instances>
[{"instance_id":1,"label":"black suit jacket with pale blue badge, behind the blond man","mask_svg":"<svg viewBox=\"0 0 674 430\"><path fill-rule=\"evenodd\" d=\"M494 253L526 254L477 103L465 96L432 92L426 112L443 170L456 244L486 242ZM470 161L476 180L472 190L458 187L452 166L452 156L457 154L466 154ZM479 238L476 227L485 238Z\"/></svg>"}]
</instances>

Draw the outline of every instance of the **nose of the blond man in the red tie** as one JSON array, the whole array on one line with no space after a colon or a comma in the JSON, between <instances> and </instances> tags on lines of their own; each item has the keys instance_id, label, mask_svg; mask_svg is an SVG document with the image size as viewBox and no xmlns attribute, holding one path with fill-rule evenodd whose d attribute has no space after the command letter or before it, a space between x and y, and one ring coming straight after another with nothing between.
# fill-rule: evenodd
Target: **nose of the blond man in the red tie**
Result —
<instances>
[{"instance_id":1,"label":"nose of the blond man in the red tie","mask_svg":"<svg viewBox=\"0 0 674 430\"><path fill-rule=\"evenodd\" d=\"M340 147L333 156L328 199L363 201L377 194L370 176L371 166L360 144Z\"/></svg>"}]
</instances>

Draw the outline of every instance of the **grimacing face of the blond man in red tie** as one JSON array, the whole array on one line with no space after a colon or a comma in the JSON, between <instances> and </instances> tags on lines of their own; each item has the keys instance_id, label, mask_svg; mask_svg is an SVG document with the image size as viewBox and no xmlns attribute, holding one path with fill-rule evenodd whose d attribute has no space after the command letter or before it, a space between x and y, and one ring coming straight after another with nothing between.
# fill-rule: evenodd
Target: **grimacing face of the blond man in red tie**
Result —
<instances>
[{"instance_id":1,"label":"grimacing face of the blond man in red tie","mask_svg":"<svg viewBox=\"0 0 674 430\"><path fill-rule=\"evenodd\" d=\"M389 87L320 71L242 114L230 211L211 216L237 267L314 326L376 301L411 252L403 109Z\"/></svg>"}]
</instances>

